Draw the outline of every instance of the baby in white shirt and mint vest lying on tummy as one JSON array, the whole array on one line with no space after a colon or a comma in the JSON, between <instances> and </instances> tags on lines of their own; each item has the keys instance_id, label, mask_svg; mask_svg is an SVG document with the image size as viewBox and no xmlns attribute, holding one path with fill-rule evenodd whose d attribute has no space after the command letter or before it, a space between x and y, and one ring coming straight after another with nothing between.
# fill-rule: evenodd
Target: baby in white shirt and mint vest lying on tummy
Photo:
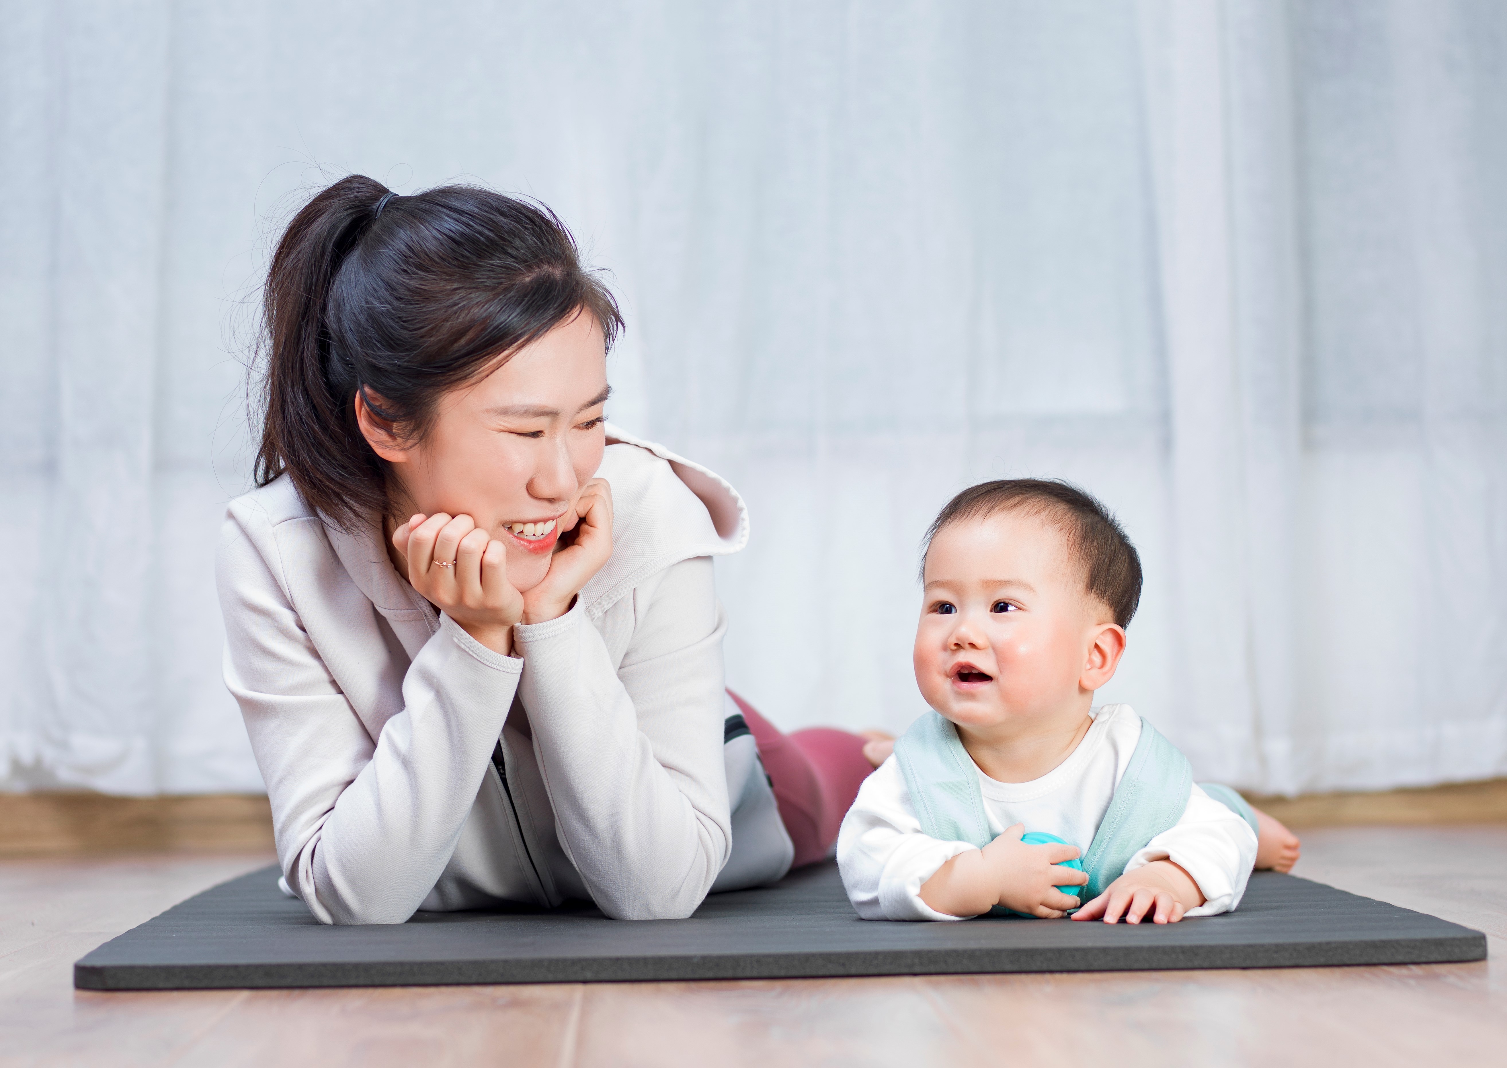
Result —
<instances>
[{"instance_id":1,"label":"baby in white shirt and mint vest lying on tummy","mask_svg":"<svg viewBox=\"0 0 1507 1068\"><path fill-rule=\"evenodd\" d=\"M1129 705L1093 708L1141 600L1103 505L1062 482L964 490L927 532L916 682L933 708L859 789L838 865L864 919L1175 923L1234 908L1298 839Z\"/></svg>"}]
</instances>

